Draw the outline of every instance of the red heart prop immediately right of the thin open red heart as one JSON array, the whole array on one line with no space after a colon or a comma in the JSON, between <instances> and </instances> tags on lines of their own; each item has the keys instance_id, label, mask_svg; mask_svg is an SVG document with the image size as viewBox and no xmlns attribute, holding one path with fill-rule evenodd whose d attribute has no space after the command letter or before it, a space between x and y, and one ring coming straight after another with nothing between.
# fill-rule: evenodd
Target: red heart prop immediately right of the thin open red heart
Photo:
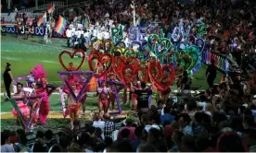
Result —
<instances>
[{"instance_id":1,"label":"red heart prop immediately right of the thin open red heart","mask_svg":"<svg viewBox=\"0 0 256 153\"><path fill-rule=\"evenodd\" d=\"M93 66L94 62L96 62L96 66ZM98 67L102 67L100 71L96 72L96 77L106 76L112 65L112 56L109 53L92 52L88 56L88 65L94 72L98 70Z\"/></svg>"}]
</instances>

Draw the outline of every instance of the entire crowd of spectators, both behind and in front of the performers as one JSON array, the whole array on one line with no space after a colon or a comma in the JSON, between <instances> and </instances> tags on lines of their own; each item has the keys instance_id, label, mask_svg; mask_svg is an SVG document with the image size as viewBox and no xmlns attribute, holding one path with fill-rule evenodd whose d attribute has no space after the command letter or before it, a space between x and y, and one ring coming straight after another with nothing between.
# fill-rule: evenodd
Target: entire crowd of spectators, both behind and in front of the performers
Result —
<instances>
[{"instance_id":1,"label":"entire crowd of spectators, both behind and in front of the performers","mask_svg":"<svg viewBox=\"0 0 256 153\"><path fill-rule=\"evenodd\" d=\"M166 34L172 32L180 18L185 23L209 25L205 39L211 52L231 56L250 77L224 76L220 84L198 95L170 95L167 103L158 100L156 106L130 114L122 127L117 127L108 114L95 113L94 121L88 122L82 131L75 128L57 135L50 130L38 132L31 147L24 131L5 131L1 133L2 151L256 151L256 77L251 74L256 67L255 1L197 0L194 5L182 5L177 0L134 3L138 25L160 22ZM103 24L109 14L114 23L130 26L131 4L130 0L97 0L89 6L57 10L54 17L62 15L72 21L86 15L91 24ZM196 31L197 27L194 28ZM119 132L116 134L115 130Z\"/></svg>"}]
</instances>

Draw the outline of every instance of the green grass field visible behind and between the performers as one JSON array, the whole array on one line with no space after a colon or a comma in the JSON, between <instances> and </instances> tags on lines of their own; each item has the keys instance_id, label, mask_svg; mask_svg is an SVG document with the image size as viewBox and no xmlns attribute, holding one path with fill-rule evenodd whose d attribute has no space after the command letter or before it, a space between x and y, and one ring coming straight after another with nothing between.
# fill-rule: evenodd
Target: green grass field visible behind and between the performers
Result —
<instances>
[{"instance_id":1,"label":"green grass field visible behind and between the performers","mask_svg":"<svg viewBox=\"0 0 256 153\"><path fill-rule=\"evenodd\" d=\"M72 51L71 48L66 47L66 39L53 39L51 44L44 45L43 37L18 40L15 35L7 35L1 38L1 73L3 74L4 72L6 62L11 64L11 70L14 77L28 75L32 67L42 64L47 71L48 82L53 85L61 86L62 81L58 76L58 71L62 71L63 68L59 64L58 54L63 50ZM68 55L64 55L63 61L66 65L70 62L73 62L74 65L78 65L81 59L70 59ZM197 74L194 74L192 84L194 88L208 88L205 79L206 67L206 65L203 65ZM89 70L87 61L84 62L82 70ZM218 82L221 76L221 73L219 73L215 81ZM176 87L174 86L172 88L175 89ZM4 83L1 80L1 93L4 92ZM9 102L5 102L4 99L4 96L1 96L1 112L11 112L12 105ZM50 97L50 105L51 111L61 111L58 95L55 94ZM95 97L89 96L86 100L86 110L97 110ZM123 106L122 110L130 110L130 108Z\"/></svg>"}]
</instances>

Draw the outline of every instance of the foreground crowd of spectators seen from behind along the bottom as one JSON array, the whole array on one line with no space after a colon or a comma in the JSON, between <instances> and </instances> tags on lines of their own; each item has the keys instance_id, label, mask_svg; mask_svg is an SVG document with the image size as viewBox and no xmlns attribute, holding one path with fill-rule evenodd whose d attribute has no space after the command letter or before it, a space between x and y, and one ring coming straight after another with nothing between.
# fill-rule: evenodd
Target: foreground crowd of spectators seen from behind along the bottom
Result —
<instances>
[{"instance_id":1,"label":"foreground crowd of spectators seen from behind along the bottom","mask_svg":"<svg viewBox=\"0 0 256 153\"><path fill-rule=\"evenodd\" d=\"M118 123L95 112L83 128L77 121L73 131L38 131L30 145L23 130L4 131L1 151L254 152L256 97L232 89L236 86L237 81L225 79L198 95L171 95L166 104L158 100Z\"/></svg>"}]
</instances>

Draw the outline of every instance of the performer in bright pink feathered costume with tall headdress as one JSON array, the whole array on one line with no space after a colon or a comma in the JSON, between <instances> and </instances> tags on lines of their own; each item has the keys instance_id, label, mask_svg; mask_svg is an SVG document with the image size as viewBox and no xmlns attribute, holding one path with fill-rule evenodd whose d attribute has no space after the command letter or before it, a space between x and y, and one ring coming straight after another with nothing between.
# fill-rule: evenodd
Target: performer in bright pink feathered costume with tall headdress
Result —
<instances>
[{"instance_id":1,"label":"performer in bright pink feathered costume with tall headdress","mask_svg":"<svg viewBox=\"0 0 256 153\"><path fill-rule=\"evenodd\" d=\"M40 109L39 121L41 124L46 124L47 115L50 112L50 105L48 101L49 97L46 92L47 91L46 72L43 69L43 65L36 65L35 68L32 68L32 75L34 76L36 81L36 86L35 86L36 96L44 96L39 108ZM37 99L37 102L38 100L39 99Z\"/></svg>"}]
</instances>

